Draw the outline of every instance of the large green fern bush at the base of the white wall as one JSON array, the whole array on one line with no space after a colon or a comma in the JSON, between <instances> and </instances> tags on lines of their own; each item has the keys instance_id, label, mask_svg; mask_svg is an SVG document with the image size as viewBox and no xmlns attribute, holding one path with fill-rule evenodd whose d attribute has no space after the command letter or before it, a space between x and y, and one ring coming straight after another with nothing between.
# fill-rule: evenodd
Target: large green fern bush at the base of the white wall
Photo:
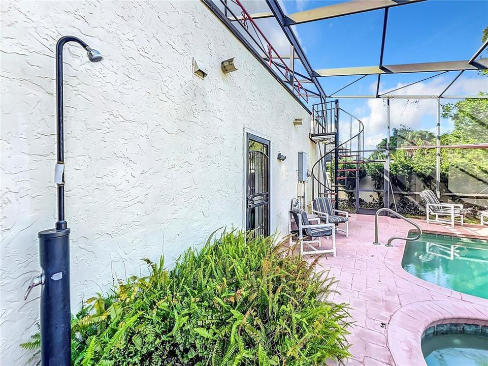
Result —
<instances>
[{"instance_id":1,"label":"large green fern bush at the base of the white wall","mask_svg":"<svg viewBox=\"0 0 488 366\"><path fill-rule=\"evenodd\" d=\"M335 280L273 237L223 233L168 270L119 281L72 322L72 359L90 365L323 365L349 356ZM39 339L23 344L32 348Z\"/></svg>"}]
</instances>

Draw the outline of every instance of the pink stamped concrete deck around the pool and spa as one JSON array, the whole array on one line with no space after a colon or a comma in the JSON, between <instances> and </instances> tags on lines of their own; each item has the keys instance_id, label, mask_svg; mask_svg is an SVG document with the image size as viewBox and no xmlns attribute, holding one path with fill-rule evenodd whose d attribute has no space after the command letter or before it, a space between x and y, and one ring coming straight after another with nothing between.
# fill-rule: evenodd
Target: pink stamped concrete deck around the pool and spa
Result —
<instances>
[{"instance_id":1,"label":"pink stamped concrete deck around the pool and spa","mask_svg":"<svg viewBox=\"0 0 488 366\"><path fill-rule=\"evenodd\" d=\"M428 232L488 237L486 226L461 227L457 223L451 228L414 221ZM349 341L353 357L346 365L424 366L422 332L431 325L447 322L488 325L488 300L410 275L401 266L405 241L394 240L394 248L387 248L384 243L393 235L406 236L413 227L388 217L380 217L379 222L379 241L383 245L375 246L374 216L351 215L349 237L337 233L337 256L322 258L318 268L330 269L339 280L340 294L334 294L333 299L348 302L352 308L355 326ZM323 245L330 245L330 240Z\"/></svg>"}]
</instances>

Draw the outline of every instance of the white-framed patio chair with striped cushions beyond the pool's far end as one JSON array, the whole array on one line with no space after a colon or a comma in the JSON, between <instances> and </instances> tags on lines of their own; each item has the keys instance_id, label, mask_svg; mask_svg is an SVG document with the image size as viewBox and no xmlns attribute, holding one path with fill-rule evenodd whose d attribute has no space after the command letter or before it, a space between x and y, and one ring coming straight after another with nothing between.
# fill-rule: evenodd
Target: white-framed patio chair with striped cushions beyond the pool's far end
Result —
<instances>
[{"instance_id":1,"label":"white-framed patio chair with striped cushions beyond the pool's far end","mask_svg":"<svg viewBox=\"0 0 488 366\"><path fill-rule=\"evenodd\" d=\"M454 227L454 218L461 219L461 226L464 225L464 215L466 210L462 204L441 203L434 192L425 190L420 192L420 197L426 203L426 221L434 224L449 224ZM435 216L435 219L431 219ZM445 218L447 216L447 218Z\"/></svg>"}]
</instances>

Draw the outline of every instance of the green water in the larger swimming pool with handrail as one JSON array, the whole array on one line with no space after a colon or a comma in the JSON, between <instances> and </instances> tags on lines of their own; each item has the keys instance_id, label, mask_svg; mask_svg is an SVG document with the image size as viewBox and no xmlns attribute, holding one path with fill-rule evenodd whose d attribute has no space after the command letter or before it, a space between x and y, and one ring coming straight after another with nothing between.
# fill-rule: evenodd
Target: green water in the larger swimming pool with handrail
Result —
<instances>
[{"instance_id":1,"label":"green water in the larger swimming pool with handrail","mask_svg":"<svg viewBox=\"0 0 488 366\"><path fill-rule=\"evenodd\" d=\"M407 241L402 267L430 283L488 299L488 240L422 234Z\"/></svg>"}]
</instances>

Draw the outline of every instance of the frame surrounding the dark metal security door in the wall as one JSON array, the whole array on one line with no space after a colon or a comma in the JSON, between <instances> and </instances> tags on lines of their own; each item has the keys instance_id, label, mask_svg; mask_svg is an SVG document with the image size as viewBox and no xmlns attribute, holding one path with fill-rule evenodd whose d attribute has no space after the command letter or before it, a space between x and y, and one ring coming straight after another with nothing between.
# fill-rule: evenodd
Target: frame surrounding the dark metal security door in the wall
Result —
<instances>
[{"instance_id":1,"label":"frame surrounding the dark metal security door in the wall","mask_svg":"<svg viewBox=\"0 0 488 366\"><path fill-rule=\"evenodd\" d=\"M273 220L273 194L272 194L272 187L273 187L273 159L272 159L272 156L273 155L273 145L272 145L272 142L271 142L271 138L269 136L267 136L266 134L263 134L263 133L259 133L257 131L254 131L254 130L251 130L251 129L248 129L248 128L244 128L243 129L243 154L242 154L242 161L243 161L243 179L242 179L242 212L243 212L243 215L242 215L242 227L243 229L245 230L247 228L247 178L248 178L248 172L247 172L247 160L248 160L248 146L249 146L249 138L251 140L255 140L257 142L261 142L261 143L265 143L267 144L269 147L269 151L268 151L268 154L269 154L269 162L268 162L268 170L269 170L269 174L268 174L268 185L269 185L269 196L268 196L268 200L269 200L269 203L268 203L268 207L269 207L269 215L268 215L268 224L269 224L269 231L270 231L270 235L271 233L273 232L273 224L274 224L274 220Z\"/></svg>"}]
</instances>

